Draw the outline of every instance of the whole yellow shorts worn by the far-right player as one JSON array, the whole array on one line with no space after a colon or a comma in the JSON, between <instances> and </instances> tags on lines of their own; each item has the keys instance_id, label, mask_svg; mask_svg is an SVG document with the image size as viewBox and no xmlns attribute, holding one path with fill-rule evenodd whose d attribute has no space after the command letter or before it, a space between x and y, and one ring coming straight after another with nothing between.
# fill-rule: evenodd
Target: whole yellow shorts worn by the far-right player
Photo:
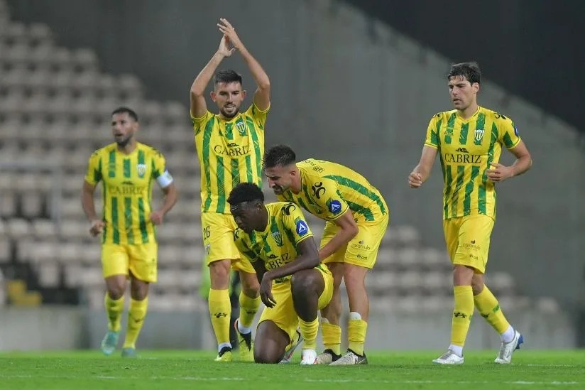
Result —
<instances>
[{"instance_id":1,"label":"whole yellow shorts worn by the far-right player","mask_svg":"<svg viewBox=\"0 0 585 390\"><path fill-rule=\"evenodd\" d=\"M452 264L485 273L492 229L493 219L481 214L444 220L443 232Z\"/></svg>"}]
</instances>

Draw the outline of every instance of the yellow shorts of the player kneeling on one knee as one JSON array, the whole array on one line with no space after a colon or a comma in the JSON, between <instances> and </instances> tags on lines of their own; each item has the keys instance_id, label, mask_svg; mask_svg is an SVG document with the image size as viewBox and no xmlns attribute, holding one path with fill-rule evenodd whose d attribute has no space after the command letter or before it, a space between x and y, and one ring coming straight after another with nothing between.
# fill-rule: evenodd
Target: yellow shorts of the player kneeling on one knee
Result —
<instances>
[{"instance_id":1,"label":"yellow shorts of the player kneeling on one knee","mask_svg":"<svg viewBox=\"0 0 585 390\"><path fill-rule=\"evenodd\" d=\"M319 296L319 310L329 305L329 301L333 296L333 275L327 266L320 264L315 267L319 270L325 281L325 288ZM292 340L297 332L299 325L299 317L295 310L295 305L292 303L292 292L290 291L290 279L282 283L272 283L272 296L276 301L273 308L264 308L258 324L262 321L270 320L284 330L288 335L288 339Z\"/></svg>"}]
</instances>

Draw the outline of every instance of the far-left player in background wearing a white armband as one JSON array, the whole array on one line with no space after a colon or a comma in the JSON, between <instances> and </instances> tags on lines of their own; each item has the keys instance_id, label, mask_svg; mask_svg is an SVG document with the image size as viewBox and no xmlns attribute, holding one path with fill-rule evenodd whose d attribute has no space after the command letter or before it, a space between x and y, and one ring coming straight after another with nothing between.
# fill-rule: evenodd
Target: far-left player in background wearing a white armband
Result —
<instances>
[{"instance_id":1,"label":"far-left player in background wearing a white armband","mask_svg":"<svg viewBox=\"0 0 585 390\"><path fill-rule=\"evenodd\" d=\"M136 142L138 116L120 107L111 114L115 143L95 151L83 183L82 206L92 224L92 236L102 234L102 266L106 281L104 305L108 332L102 351L116 350L120 332L126 281L130 278L130 310L123 357L136 357L136 339L148 307L148 286L156 281L157 242L155 225L175 205L177 190L165 167L163 155L151 146ZM160 210L151 206L152 181L165 193ZM102 181L103 217L97 217L94 191Z\"/></svg>"}]
</instances>

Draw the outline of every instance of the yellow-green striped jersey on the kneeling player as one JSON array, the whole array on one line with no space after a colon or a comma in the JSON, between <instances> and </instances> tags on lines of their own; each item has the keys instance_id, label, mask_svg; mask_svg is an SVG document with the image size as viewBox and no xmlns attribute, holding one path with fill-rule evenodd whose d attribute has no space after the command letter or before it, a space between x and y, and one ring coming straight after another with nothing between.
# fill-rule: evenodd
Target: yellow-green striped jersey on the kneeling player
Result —
<instances>
[{"instance_id":1,"label":"yellow-green striped jersey on the kneeling player","mask_svg":"<svg viewBox=\"0 0 585 390\"><path fill-rule=\"evenodd\" d=\"M277 269L290 263L300 254L298 244L313 237L311 229L296 205L289 202L274 202L265 205L268 224L263 232L234 231L234 242L244 259L250 262L261 260L266 270ZM288 281L290 276L275 280Z\"/></svg>"}]
</instances>

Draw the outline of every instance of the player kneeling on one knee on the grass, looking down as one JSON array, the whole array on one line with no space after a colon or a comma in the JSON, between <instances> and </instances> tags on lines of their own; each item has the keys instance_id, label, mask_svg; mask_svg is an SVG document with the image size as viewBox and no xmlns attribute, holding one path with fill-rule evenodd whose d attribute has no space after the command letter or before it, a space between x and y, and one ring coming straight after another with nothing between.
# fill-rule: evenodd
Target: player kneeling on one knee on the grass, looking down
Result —
<instances>
[{"instance_id":1,"label":"player kneeling on one knee on the grass, looking down","mask_svg":"<svg viewBox=\"0 0 585 390\"><path fill-rule=\"evenodd\" d=\"M319 252L302 211L289 202L264 205L255 183L236 185L227 202L238 225L236 247L250 261L260 285L263 310L256 342L257 363L278 363L296 347L297 326L305 339L300 364L316 364L317 310L329 304L333 276L319 264ZM298 339L297 339L298 340Z\"/></svg>"}]
</instances>

